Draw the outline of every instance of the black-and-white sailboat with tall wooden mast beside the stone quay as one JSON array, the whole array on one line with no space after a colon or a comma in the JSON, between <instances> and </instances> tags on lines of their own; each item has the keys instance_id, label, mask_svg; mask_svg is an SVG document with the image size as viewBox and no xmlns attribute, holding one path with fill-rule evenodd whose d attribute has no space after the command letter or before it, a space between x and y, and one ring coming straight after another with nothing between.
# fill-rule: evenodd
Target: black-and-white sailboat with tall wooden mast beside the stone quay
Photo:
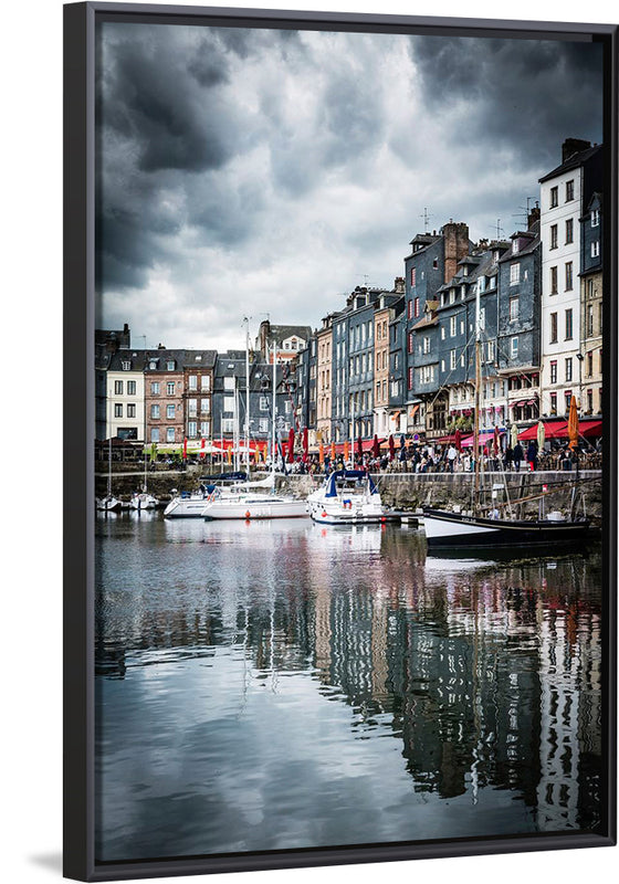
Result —
<instances>
[{"instance_id":1,"label":"black-and-white sailboat with tall wooden mast beside the stone quay","mask_svg":"<svg viewBox=\"0 0 619 884\"><path fill-rule=\"evenodd\" d=\"M480 391L481 391L481 309L480 292L478 288L475 301L475 417L474 417L474 488L473 504L470 512L452 512L423 507L423 523L429 550L440 547L451 548L492 548L512 547L514 550L525 549L532 544L544 544L550 548L556 544L570 544L581 541L590 529L590 520L586 517L564 518L558 512L550 512L546 518L515 519L511 517L512 505L493 505L492 509L483 512L480 493ZM577 423L576 400L570 403L573 421ZM574 431L577 440L577 430ZM525 499L543 501L550 492L533 495ZM575 509L576 487L573 487L571 514ZM501 509L499 508L501 507ZM504 515L505 508L510 517ZM503 511L503 513L501 512Z\"/></svg>"}]
</instances>

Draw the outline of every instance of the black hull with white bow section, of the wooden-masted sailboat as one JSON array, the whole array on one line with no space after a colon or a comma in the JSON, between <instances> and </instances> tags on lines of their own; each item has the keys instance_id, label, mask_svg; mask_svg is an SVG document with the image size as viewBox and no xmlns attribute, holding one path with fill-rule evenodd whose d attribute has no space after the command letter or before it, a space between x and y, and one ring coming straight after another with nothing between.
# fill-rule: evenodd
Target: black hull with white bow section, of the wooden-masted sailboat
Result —
<instances>
[{"instance_id":1,"label":"black hull with white bow section, of the wooden-masted sailboat","mask_svg":"<svg viewBox=\"0 0 619 884\"><path fill-rule=\"evenodd\" d=\"M428 546L459 547L526 547L532 544L571 544L584 540L590 523L479 518L440 509L423 513Z\"/></svg>"}]
</instances>

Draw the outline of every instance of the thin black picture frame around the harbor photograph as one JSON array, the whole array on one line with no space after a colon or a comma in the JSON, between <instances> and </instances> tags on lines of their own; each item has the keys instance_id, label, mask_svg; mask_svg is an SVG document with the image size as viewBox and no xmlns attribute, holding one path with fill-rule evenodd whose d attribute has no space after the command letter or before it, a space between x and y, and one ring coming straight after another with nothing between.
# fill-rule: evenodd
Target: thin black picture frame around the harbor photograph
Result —
<instances>
[{"instance_id":1,"label":"thin black picture frame around the harbor photograph","mask_svg":"<svg viewBox=\"0 0 619 884\"><path fill-rule=\"evenodd\" d=\"M604 486L604 834L493 836L408 844L366 844L252 854L106 863L94 857L94 200L95 22L172 20L213 25L354 32L596 40L605 50L605 434L617 439L617 25L438 19L336 12L86 2L64 7L64 874L112 881L276 870L409 859L548 851L616 844L617 487L616 446L605 450Z\"/></svg>"}]
</instances>

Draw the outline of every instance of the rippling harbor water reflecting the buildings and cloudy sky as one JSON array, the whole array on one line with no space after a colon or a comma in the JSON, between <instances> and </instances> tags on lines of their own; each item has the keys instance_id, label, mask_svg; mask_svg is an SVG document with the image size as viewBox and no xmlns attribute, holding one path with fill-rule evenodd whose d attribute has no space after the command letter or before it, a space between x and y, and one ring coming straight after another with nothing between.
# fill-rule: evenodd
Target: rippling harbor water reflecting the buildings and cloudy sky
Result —
<instances>
[{"instance_id":1,"label":"rippling harbor water reflecting the buildings and cloudy sky","mask_svg":"<svg viewBox=\"0 0 619 884\"><path fill-rule=\"evenodd\" d=\"M96 856L599 825L599 546L96 519Z\"/></svg>"}]
</instances>

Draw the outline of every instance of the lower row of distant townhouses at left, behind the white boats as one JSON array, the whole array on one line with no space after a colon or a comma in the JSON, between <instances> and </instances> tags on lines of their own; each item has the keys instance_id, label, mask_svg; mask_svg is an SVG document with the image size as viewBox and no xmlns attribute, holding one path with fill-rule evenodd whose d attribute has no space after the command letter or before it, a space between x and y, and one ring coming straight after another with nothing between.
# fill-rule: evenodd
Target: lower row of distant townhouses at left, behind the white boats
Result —
<instances>
[{"instance_id":1,"label":"lower row of distant townhouses at left, behind the white boats","mask_svg":"<svg viewBox=\"0 0 619 884\"><path fill-rule=\"evenodd\" d=\"M249 357L249 431L254 442L272 434L273 349L275 419L281 434L294 424L291 361L306 347L311 328L262 323ZM130 347L130 332L97 330L96 438L178 445L185 439L243 438L246 420L245 350ZM295 428L296 429L296 428Z\"/></svg>"}]
</instances>

